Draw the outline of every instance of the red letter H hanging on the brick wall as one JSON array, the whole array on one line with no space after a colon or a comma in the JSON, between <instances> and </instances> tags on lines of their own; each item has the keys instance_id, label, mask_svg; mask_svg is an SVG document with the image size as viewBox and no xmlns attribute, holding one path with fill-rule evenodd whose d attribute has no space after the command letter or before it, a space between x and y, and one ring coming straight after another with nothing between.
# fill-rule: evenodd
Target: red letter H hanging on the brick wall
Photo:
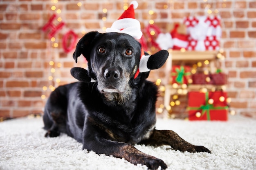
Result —
<instances>
[{"instance_id":1,"label":"red letter H hanging on the brick wall","mask_svg":"<svg viewBox=\"0 0 256 170\"><path fill-rule=\"evenodd\" d=\"M55 14L53 14L49 21L43 26L43 31L45 32L47 29L50 29L50 32L48 34L49 38L52 38L57 31L59 31L63 26L64 26L64 22L60 22L57 26L53 24L53 20L56 18L57 16Z\"/></svg>"}]
</instances>

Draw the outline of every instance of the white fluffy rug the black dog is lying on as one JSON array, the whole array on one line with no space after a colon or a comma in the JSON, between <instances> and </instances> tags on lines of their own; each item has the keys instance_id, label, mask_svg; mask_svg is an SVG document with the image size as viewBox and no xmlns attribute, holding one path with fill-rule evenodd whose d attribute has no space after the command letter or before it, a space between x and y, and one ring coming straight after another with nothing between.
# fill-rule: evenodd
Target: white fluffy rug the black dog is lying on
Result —
<instances>
[{"instance_id":1,"label":"white fluffy rug the black dog is lying on","mask_svg":"<svg viewBox=\"0 0 256 170\"><path fill-rule=\"evenodd\" d=\"M45 138L42 118L0 122L0 170L145 170L124 159L82 150L62 134ZM158 119L157 129L171 129L208 153L181 153L169 146L135 147L162 159L175 170L256 170L256 120L230 116L228 122Z\"/></svg>"}]
</instances>

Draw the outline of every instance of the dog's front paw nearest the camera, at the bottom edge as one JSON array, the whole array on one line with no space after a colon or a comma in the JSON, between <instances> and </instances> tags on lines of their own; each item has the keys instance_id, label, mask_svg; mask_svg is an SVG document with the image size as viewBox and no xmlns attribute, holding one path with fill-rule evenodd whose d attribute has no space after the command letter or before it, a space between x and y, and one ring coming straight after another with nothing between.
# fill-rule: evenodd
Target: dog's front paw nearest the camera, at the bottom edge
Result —
<instances>
[{"instance_id":1,"label":"dog's front paw nearest the camera, at the bottom edge","mask_svg":"<svg viewBox=\"0 0 256 170\"><path fill-rule=\"evenodd\" d=\"M159 168L159 166L162 170L167 168L167 165L164 163L164 161L156 157L144 157L141 164L146 165L150 170L156 170Z\"/></svg>"}]
</instances>

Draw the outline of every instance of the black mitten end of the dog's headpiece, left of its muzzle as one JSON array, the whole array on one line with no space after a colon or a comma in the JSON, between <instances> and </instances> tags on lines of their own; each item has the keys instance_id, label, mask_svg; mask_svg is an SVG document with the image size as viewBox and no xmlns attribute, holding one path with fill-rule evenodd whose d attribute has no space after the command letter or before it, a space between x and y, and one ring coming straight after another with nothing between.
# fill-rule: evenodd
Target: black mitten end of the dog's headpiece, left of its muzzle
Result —
<instances>
[{"instance_id":1,"label":"black mitten end of the dog's headpiece, left of its muzzle","mask_svg":"<svg viewBox=\"0 0 256 170\"><path fill-rule=\"evenodd\" d=\"M88 71L84 68L74 67L70 70L71 75L79 81L91 82L91 77L88 75Z\"/></svg>"}]
</instances>

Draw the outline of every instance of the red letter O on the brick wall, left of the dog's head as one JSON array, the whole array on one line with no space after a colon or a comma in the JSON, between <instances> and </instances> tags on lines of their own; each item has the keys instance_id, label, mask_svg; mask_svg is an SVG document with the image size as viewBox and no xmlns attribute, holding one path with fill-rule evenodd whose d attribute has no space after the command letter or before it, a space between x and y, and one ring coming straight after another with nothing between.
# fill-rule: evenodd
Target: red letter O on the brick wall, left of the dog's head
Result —
<instances>
[{"instance_id":1,"label":"red letter O on the brick wall, left of the dog's head","mask_svg":"<svg viewBox=\"0 0 256 170\"><path fill-rule=\"evenodd\" d=\"M70 43L68 43L69 37L71 37ZM65 52L70 52L74 48L74 46L76 45L76 39L77 39L77 35L72 30L70 30L63 36L62 44Z\"/></svg>"}]
</instances>

